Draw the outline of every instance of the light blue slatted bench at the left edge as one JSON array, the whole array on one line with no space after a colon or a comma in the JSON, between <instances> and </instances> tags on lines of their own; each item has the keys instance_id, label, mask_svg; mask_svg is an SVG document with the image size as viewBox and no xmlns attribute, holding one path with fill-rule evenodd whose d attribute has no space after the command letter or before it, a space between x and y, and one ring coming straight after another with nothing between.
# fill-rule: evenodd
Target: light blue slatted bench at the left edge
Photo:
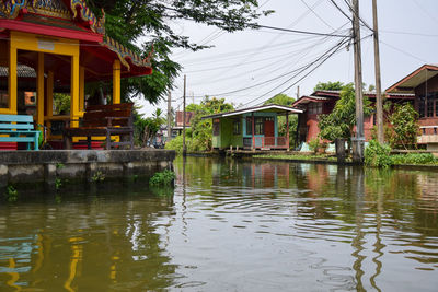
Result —
<instances>
[{"instance_id":1,"label":"light blue slatted bench at the left edge","mask_svg":"<svg viewBox=\"0 0 438 292\"><path fill-rule=\"evenodd\" d=\"M0 115L0 142L31 143L38 150L39 131L34 130L34 119L27 115Z\"/></svg>"}]
</instances>

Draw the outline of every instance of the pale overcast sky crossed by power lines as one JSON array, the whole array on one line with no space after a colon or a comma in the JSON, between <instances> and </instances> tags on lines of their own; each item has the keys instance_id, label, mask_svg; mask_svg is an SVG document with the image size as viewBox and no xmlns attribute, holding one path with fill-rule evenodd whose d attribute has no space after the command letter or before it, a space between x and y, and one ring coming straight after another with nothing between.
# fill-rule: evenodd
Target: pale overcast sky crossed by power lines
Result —
<instances>
[{"instance_id":1,"label":"pale overcast sky crossed by power lines","mask_svg":"<svg viewBox=\"0 0 438 292\"><path fill-rule=\"evenodd\" d=\"M334 1L347 15L351 14L345 0ZM376 84L373 38L366 26L372 27L372 1L359 2L365 22L361 26L362 79L366 84ZM438 63L438 1L377 2L382 89L385 90L424 63ZM260 0L260 5L261 11L275 11L258 20L262 25L336 35L346 35L351 28L350 21L331 0ZM235 107L256 106L278 93L297 98L298 86L299 96L309 95L318 82L354 81L353 45L346 43L321 63L321 57L328 56L344 39L338 36L267 28L231 34L189 21L173 21L171 25L193 42L212 46L196 52L174 50L173 60L183 66L172 91L175 110L182 110L184 74L187 104L200 103L208 95L226 98ZM140 113L145 116L151 116L157 107L166 113L166 101L157 105L141 98L136 102L143 105Z\"/></svg>"}]
</instances>

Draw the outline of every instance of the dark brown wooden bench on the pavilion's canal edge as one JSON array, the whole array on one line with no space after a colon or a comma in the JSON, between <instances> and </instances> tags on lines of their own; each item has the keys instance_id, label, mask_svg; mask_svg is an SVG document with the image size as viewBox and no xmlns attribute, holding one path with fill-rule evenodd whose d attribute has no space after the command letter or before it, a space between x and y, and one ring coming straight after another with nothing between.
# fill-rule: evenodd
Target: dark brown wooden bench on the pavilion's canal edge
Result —
<instances>
[{"instance_id":1,"label":"dark brown wooden bench on the pavilion's canal edge","mask_svg":"<svg viewBox=\"0 0 438 292\"><path fill-rule=\"evenodd\" d=\"M69 126L64 129L66 149L72 149L73 137L87 137L88 149L91 149L92 137L105 137L105 141L102 142L107 150L123 145L129 145L130 149L134 149L131 103L88 106L79 122L80 125L77 128ZM118 136L119 141L112 141L112 136Z\"/></svg>"}]
</instances>

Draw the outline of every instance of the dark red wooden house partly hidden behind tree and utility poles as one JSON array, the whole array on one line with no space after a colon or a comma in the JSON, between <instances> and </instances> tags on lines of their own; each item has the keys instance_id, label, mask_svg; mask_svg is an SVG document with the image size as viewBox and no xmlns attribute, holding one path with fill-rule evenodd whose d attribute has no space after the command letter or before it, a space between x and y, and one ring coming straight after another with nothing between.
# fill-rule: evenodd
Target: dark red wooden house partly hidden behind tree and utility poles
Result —
<instances>
[{"instance_id":1,"label":"dark red wooden house partly hidden behind tree and utility poles","mask_svg":"<svg viewBox=\"0 0 438 292\"><path fill-rule=\"evenodd\" d=\"M298 119L298 141L309 143L310 140L318 138L320 128L318 127L318 117L321 114L330 114L339 100L341 91L315 91L311 95L304 95L298 98L292 107L303 110ZM376 104L376 92L364 92L371 105ZM413 103L414 94L410 92L394 92L385 95L387 101L392 103ZM376 125L376 114L364 119L364 129L366 141L371 139L371 129Z\"/></svg>"}]
</instances>

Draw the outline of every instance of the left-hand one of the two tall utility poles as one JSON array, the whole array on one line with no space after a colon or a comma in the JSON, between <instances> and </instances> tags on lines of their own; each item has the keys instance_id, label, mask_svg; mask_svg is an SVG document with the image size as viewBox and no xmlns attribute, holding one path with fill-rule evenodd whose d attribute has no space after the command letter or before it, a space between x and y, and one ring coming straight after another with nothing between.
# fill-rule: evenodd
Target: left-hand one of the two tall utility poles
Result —
<instances>
[{"instance_id":1,"label":"left-hand one of the two tall utility poles","mask_svg":"<svg viewBox=\"0 0 438 292\"><path fill-rule=\"evenodd\" d=\"M355 51L356 137L353 138L353 161L364 161L364 96L362 61L360 50L359 0L353 0L353 36Z\"/></svg>"}]
</instances>

